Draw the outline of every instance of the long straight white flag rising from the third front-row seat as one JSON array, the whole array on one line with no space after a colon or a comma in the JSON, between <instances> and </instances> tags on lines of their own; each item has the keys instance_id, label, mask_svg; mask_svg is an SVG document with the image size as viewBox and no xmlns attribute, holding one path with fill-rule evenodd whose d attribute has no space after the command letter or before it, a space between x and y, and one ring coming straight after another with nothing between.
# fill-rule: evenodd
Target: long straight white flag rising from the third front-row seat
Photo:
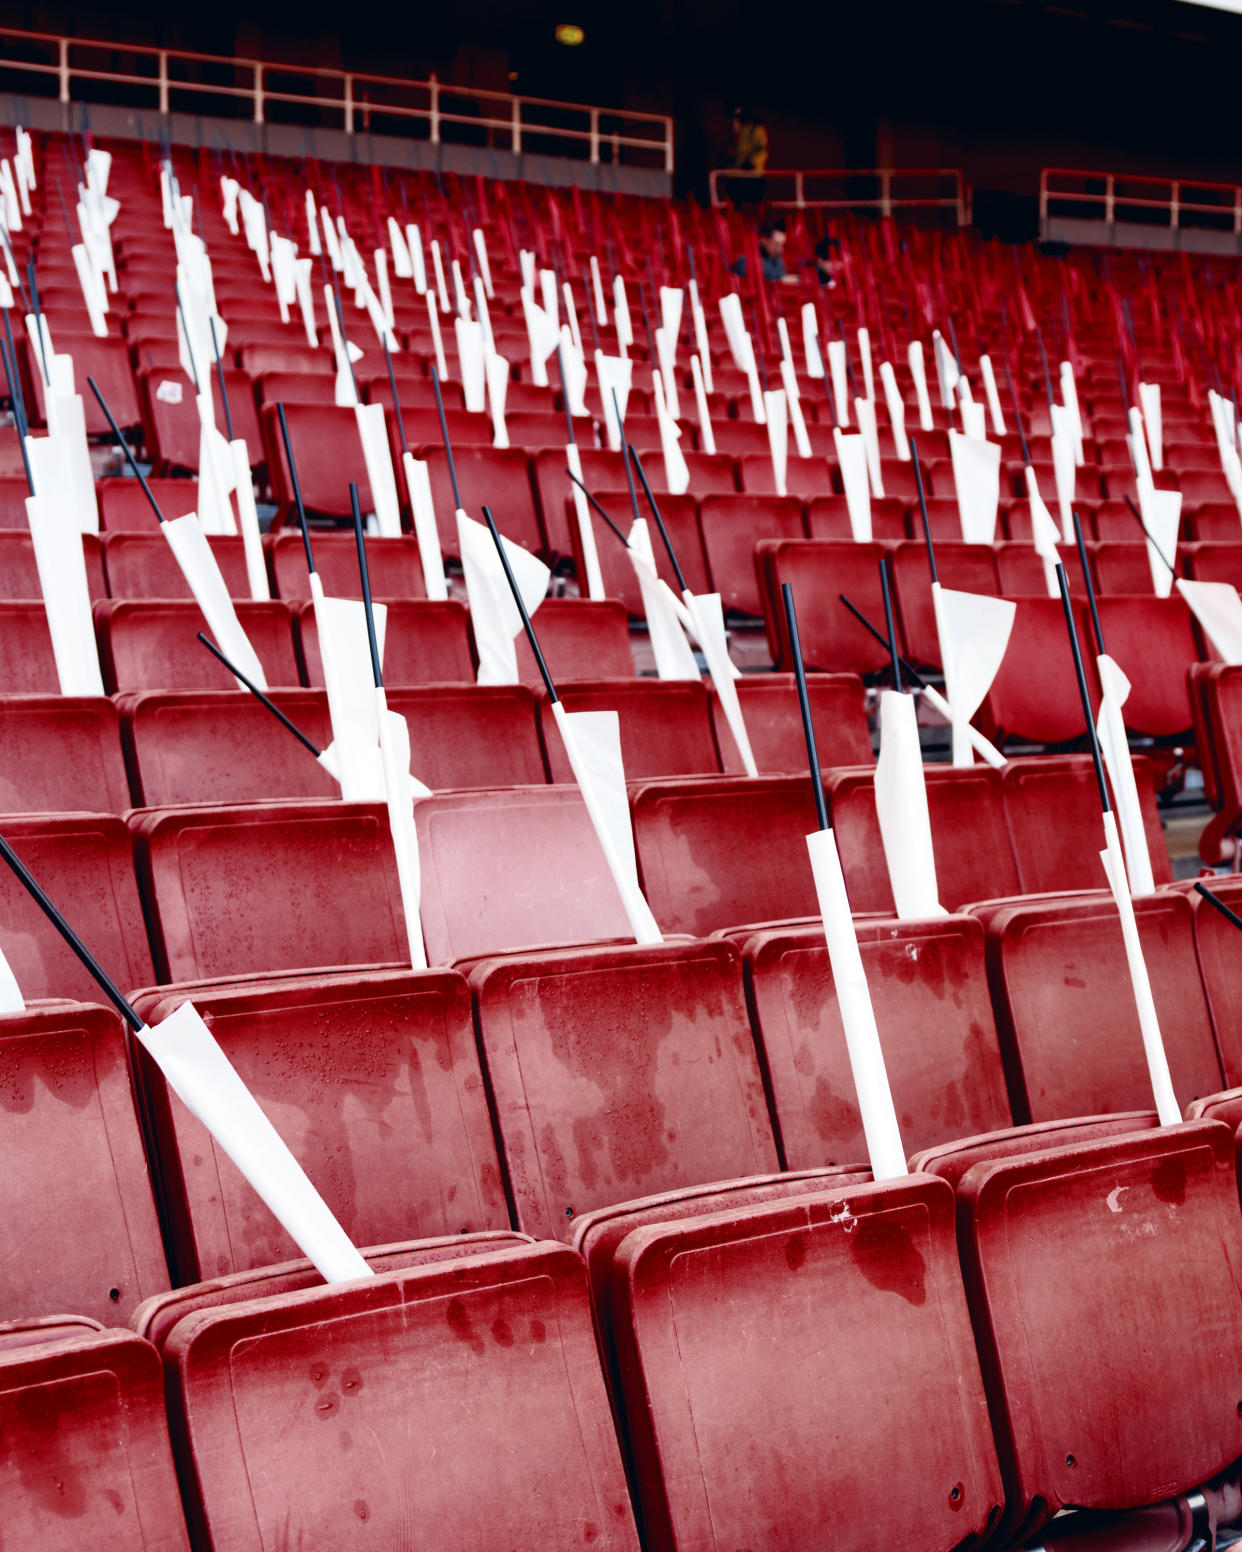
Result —
<instances>
[{"instance_id":1,"label":"long straight white flag rising from the third front-row seat","mask_svg":"<svg viewBox=\"0 0 1242 1552\"><path fill-rule=\"evenodd\" d=\"M905 1152L832 830L815 830L807 835L806 849L815 877L827 959L832 965L832 986L845 1029L849 1069L854 1074L871 1173L876 1180L899 1180L908 1173Z\"/></svg>"}]
</instances>

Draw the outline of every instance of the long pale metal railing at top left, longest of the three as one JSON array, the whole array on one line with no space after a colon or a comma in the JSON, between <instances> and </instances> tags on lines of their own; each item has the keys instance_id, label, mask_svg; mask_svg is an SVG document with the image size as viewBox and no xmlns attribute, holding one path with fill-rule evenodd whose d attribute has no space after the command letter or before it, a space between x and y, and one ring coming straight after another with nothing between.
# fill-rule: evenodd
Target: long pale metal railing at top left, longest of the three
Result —
<instances>
[{"instance_id":1,"label":"long pale metal railing at top left, longest of the three","mask_svg":"<svg viewBox=\"0 0 1242 1552\"><path fill-rule=\"evenodd\" d=\"M514 152L568 147L585 151L593 166L630 161L672 172L672 120L663 113L453 87L436 76L410 81L0 28L0 90L82 102L99 101L101 87L121 87L127 101L141 95L137 106L149 101L160 113L233 104L233 116L241 109L255 124L321 123L349 135L404 133L433 146L460 140Z\"/></svg>"}]
</instances>

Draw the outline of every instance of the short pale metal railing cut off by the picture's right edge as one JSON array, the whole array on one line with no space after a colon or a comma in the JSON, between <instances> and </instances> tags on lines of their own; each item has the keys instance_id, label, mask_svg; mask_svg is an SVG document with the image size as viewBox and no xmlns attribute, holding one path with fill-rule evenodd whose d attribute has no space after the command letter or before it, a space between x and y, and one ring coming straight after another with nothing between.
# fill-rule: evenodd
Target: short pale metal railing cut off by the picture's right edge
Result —
<instances>
[{"instance_id":1,"label":"short pale metal railing cut off by the picture's right edge","mask_svg":"<svg viewBox=\"0 0 1242 1552\"><path fill-rule=\"evenodd\" d=\"M1242 185L1045 168L1039 175L1040 227L1057 216L1242 236Z\"/></svg>"}]
</instances>

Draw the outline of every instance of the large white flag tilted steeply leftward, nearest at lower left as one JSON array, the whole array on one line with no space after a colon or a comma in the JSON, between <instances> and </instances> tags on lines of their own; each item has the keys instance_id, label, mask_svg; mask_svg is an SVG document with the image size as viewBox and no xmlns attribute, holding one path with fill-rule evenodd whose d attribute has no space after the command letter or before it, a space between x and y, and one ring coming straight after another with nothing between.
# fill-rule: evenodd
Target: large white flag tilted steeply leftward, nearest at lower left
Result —
<instances>
[{"instance_id":1,"label":"large white flag tilted steeply leftward, nearest at lower left","mask_svg":"<svg viewBox=\"0 0 1242 1552\"><path fill-rule=\"evenodd\" d=\"M373 1277L374 1271L337 1223L301 1164L281 1141L255 1096L193 1003L182 1003L137 1038L189 1113L202 1122L324 1282Z\"/></svg>"}]
</instances>

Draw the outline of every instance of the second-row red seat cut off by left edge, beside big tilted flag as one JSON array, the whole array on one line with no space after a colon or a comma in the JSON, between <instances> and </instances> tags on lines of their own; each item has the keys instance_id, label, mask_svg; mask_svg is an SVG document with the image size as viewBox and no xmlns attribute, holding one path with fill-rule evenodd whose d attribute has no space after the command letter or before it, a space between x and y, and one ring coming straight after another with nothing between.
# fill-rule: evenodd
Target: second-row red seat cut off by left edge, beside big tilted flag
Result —
<instances>
[{"instance_id":1,"label":"second-row red seat cut off by left edge, beside big tilted flag","mask_svg":"<svg viewBox=\"0 0 1242 1552\"><path fill-rule=\"evenodd\" d=\"M168 1288L110 1009L51 1003L0 1017L0 1183L5 1319L79 1310L118 1325Z\"/></svg>"}]
</instances>

